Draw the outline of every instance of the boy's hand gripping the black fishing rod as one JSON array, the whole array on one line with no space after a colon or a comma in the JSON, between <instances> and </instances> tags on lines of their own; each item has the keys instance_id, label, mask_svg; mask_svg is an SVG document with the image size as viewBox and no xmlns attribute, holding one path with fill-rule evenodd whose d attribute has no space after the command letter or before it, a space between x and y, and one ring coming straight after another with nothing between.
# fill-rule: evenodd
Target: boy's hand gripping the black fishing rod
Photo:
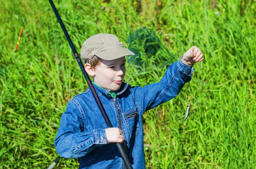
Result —
<instances>
[{"instance_id":1,"label":"boy's hand gripping the black fishing rod","mask_svg":"<svg viewBox=\"0 0 256 169\"><path fill-rule=\"evenodd\" d=\"M111 127L105 129L105 132L108 143L122 143L124 137L122 135L122 130L120 130L119 128Z\"/></svg>"}]
</instances>

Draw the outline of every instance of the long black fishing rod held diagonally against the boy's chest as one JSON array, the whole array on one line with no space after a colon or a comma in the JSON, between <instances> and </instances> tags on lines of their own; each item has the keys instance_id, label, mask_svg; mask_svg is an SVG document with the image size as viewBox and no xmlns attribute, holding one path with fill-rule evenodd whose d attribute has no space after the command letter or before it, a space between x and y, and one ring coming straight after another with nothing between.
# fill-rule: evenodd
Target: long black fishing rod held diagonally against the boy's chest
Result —
<instances>
[{"instance_id":1,"label":"long black fishing rod held diagonally against the boy's chest","mask_svg":"<svg viewBox=\"0 0 256 169\"><path fill-rule=\"evenodd\" d=\"M70 45L70 48L73 51L73 54L74 54L74 56L76 58L77 63L79 64L79 67L80 67L82 73L84 74L84 77L85 77L85 79L86 79L86 81L88 83L88 86L90 87L91 92L93 93L93 97L96 100L97 105L99 106L100 112L102 113L102 116L103 116L105 122L107 123L108 128L113 127L111 122L110 122L110 120L109 120L109 118L108 118L108 115L105 112L104 107L102 106L101 101L99 100L98 95L96 94L96 92L95 92L95 90L93 88L93 84L92 84L88 74L84 70L84 65L81 62L79 54L76 52L76 48L75 48L73 42L71 41L69 34L67 33L67 29L65 28L65 26L64 26L64 24L63 24L63 22L61 20L60 15L58 14L58 11L57 11L54 3L52 2L52 0L49 0L49 3L51 4L52 10L54 11L54 13L55 13L55 15L56 15L56 17L58 19L58 22L61 25L61 28L62 28L62 30L63 30L66 38L67 38L67 41L68 41L68 43ZM132 166L131 166L131 163L130 163L128 157L127 157L127 155L125 154L124 149L122 148L122 144L121 143L116 143L116 146L117 146L117 149L119 150L119 153L120 153L122 159L124 160L124 163L125 163L125 166L127 167L127 169L133 169Z\"/></svg>"}]
</instances>

